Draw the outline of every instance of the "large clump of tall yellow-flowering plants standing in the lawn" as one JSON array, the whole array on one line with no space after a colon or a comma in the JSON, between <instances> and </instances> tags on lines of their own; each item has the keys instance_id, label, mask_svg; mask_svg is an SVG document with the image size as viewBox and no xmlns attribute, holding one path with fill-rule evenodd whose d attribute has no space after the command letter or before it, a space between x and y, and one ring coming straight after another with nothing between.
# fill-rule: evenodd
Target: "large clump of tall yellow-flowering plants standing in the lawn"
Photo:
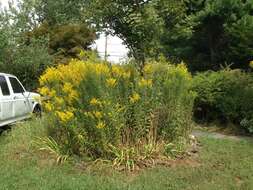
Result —
<instances>
[{"instance_id":1,"label":"large clump of tall yellow-flowering plants standing in the lawn","mask_svg":"<svg viewBox=\"0 0 253 190\"><path fill-rule=\"evenodd\" d=\"M65 154L121 163L191 130L194 94L182 64L149 64L140 76L132 65L73 60L47 69L40 84L49 136Z\"/></svg>"}]
</instances>

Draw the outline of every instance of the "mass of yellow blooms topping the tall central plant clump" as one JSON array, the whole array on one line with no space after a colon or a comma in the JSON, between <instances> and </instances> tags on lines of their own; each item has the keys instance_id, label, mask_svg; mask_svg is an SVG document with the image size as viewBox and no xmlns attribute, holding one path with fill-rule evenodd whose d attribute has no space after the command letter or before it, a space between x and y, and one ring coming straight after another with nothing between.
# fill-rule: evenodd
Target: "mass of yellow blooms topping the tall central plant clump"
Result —
<instances>
[{"instance_id":1,"label":"mass of yellow blooms topping the tall central plant clump","mask_svg":"<svg viewBox=\"0 0 253 190\"><path fill-rule=\"evenodd\" d=\"M102 63L71 60L68 65L47 69L40 77L39 92L47 97L47 102L44 103L45 110L56 116L61 123L69 124L74 120L74 115L80 114L83 117L87 116L87 119L93 121L91 123L95 122L95 126L101 129L106 126L107 118L115 118L115 112L122 113L127 109L128 106L124 103L116 105L117 98L126 98L122 102L130 104L138 103L141 100L140 94L147 90L146 88L152 90L154 86L152 74L160 71L173 77L177 77L178 74L182 77L190 76L184 64L178 66L147 64L144 67L144 76L140 77L137 70L131 66L108 66ZM92 88L82 91L84 88L80 87L86 88L85 85L97 85L96 93L103 92L98 94L99 98L89 99L90 94L86 93L92 91ZM120 85L124 85L122 89L131 89L131 95L119 97ZM111 90L112 88L116 90ZM113 94L115 92L117 94ZM87 109L80 106L80 102L84 101L89 104Z\"/></svg>"}]
</instances>

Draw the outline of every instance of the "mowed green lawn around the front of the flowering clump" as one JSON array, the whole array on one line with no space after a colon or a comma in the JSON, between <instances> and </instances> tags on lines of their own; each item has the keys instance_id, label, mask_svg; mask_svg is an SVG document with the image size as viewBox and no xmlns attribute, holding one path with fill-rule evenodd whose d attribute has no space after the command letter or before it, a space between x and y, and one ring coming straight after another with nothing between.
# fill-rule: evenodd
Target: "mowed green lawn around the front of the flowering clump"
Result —
<instances>
[{"instance_id":1,"label":"mowed green lawn around the front of the flowering clump","mask_svg":"<svg viewBox=\"0 0 253 190\"><path fill-rule=\"evenodd\" d=\"M0 189L253 189L253 141L201 138L197 164L124 174L57 165L33 146L43 134L36 121L0 136Z\"/></svg>"}]
</instances>

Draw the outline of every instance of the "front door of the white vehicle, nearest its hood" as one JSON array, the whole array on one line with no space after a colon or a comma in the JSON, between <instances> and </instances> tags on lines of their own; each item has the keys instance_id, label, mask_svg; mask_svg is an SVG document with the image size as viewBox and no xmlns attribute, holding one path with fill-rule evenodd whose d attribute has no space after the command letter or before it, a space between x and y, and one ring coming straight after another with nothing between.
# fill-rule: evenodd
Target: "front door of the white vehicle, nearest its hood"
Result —
<instances>
[{"instance_id":1,"label":"front door of the white vehicle, nearest its hood","mask_svg":"<svg viewBox=\"0 0 253 190\"><path fill-rule=\"evenodd\" d=\"M28 115L28 101L24 96L25 89L15 77L9 77L13 91L13 104L15 118Z\"/></svg>"}]
</instances>

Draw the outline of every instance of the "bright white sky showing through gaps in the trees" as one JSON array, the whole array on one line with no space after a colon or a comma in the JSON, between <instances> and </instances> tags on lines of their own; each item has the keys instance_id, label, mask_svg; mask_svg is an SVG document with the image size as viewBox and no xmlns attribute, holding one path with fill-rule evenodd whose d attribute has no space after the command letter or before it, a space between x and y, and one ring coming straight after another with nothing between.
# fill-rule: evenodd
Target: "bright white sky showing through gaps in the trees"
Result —
<instances>
[{"instance_id":1,"label":"bright white sky showing through gaps in the trees","mask_svg":"<svg viewBox=\"0 0 253 190\"><path fill-rule=\"evenodd\" d=\"M3 6L8 5L8 0L0 0ZM14 0L15 2L15 0ZM108 52L108 61L114 63L120 63L127 58L128 49L123 45L123 41L116 36L108 36L107 43L107 52ZM99 52L99 55L104 58L105 52L105 35L101 35L98 40L96 40L93 48L96 48Z\"/></svg>"}]
</instances>

